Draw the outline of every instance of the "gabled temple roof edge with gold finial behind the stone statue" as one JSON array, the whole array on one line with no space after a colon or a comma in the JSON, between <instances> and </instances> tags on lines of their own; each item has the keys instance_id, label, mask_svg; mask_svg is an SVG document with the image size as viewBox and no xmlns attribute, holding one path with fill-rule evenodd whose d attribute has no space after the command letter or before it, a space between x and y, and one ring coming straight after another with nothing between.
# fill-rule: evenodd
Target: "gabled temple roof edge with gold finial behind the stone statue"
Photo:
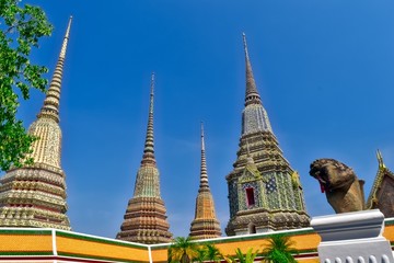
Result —
<instances>
[{"instance_id":1,"label":"gabled temple roof edge with gold finial behind the stone statue","mask_svg":"<svg viewBox=\"0 0 394 263\"><path fill-rule=\"evenodd\" d=\"M384 217L394 217L394 173L383 162L378 150L378 173L367 201L367 209L380 209Z\"/></svg>"}]
</instances>

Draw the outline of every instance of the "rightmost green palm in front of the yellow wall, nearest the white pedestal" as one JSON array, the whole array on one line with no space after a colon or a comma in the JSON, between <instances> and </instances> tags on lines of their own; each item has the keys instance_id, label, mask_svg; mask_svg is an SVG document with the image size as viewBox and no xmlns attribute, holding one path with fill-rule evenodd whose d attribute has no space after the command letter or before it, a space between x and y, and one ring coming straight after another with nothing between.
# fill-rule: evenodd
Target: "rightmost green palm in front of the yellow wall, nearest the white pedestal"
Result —
<instances>
[{"instance_id":1,"label":"rightmost green palm in front of the yellow wall, nearest the white pedestal","mask_svg":"<svg viewBox=\"0 0 394 263\"><path fill-rule=\"evenodd\" d=\"M275 235L268 240L269 244L263 250L263 262L267 263L297 263L293 254L298 254L294 244L288 236Z\"/></svg>"}]
</instances>

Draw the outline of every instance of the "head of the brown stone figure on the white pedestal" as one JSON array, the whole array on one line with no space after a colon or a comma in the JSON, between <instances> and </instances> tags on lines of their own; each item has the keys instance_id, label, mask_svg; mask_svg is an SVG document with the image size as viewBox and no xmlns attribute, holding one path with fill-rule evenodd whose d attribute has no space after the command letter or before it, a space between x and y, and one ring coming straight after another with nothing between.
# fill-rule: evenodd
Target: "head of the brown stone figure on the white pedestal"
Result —
<instances>
[{"instance_id":1,"label":"head of the brown stone figure on the white pedestal","mask_svg":"<svg viewBox=\"0 0 394 263\"><path fill-rule=\"evenodd\" d=\"M351 168L334 159L315 160L310 174L318 181L322 193L349 187L356 179Z\"/></svg>"}]
</instances>

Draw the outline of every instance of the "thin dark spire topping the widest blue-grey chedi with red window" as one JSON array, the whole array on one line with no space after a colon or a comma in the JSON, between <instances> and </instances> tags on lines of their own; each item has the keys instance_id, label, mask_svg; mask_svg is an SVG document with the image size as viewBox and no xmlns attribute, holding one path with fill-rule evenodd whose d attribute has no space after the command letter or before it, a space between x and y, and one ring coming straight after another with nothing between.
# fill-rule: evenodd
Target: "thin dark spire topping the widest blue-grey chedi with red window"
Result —
<instances>
[{"instance_id":1,"label":"thin dark spire topping the widest blue-grey chedi with red window","mask_svg":"<svg viewBox=\"0 0 394 263\"><path fill-rule=\"evenodd\" d=\"M253 103L262 103L257 88L256 88L256 82L253 77L252 64L251 64L251 60L248 57L245 33L242 33L242 38L243 38L243 44L244 44L245 66L246 66L245 105L253 104Z\"/></svg>"}]
</instances>

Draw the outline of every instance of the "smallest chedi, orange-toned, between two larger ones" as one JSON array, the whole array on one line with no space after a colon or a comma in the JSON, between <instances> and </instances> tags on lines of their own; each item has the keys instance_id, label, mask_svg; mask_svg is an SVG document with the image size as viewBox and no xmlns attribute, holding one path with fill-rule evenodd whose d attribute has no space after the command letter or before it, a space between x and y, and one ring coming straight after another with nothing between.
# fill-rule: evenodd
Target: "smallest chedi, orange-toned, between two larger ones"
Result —
<instances>
[{"instance_id":1,"label":"smallest chedi, orange-toned, between two larger ones","mask_svg":"<svg viewBox=\"0 0 394 263\"><path fill-rule=\"evenodd\" d=\"M202 124L200 185L196 198L195 219L192 221L189 236L192 239L208 239L221 236L220 224L215 213L213 197L208 183Z\"/></svg>"}]
</instances>

